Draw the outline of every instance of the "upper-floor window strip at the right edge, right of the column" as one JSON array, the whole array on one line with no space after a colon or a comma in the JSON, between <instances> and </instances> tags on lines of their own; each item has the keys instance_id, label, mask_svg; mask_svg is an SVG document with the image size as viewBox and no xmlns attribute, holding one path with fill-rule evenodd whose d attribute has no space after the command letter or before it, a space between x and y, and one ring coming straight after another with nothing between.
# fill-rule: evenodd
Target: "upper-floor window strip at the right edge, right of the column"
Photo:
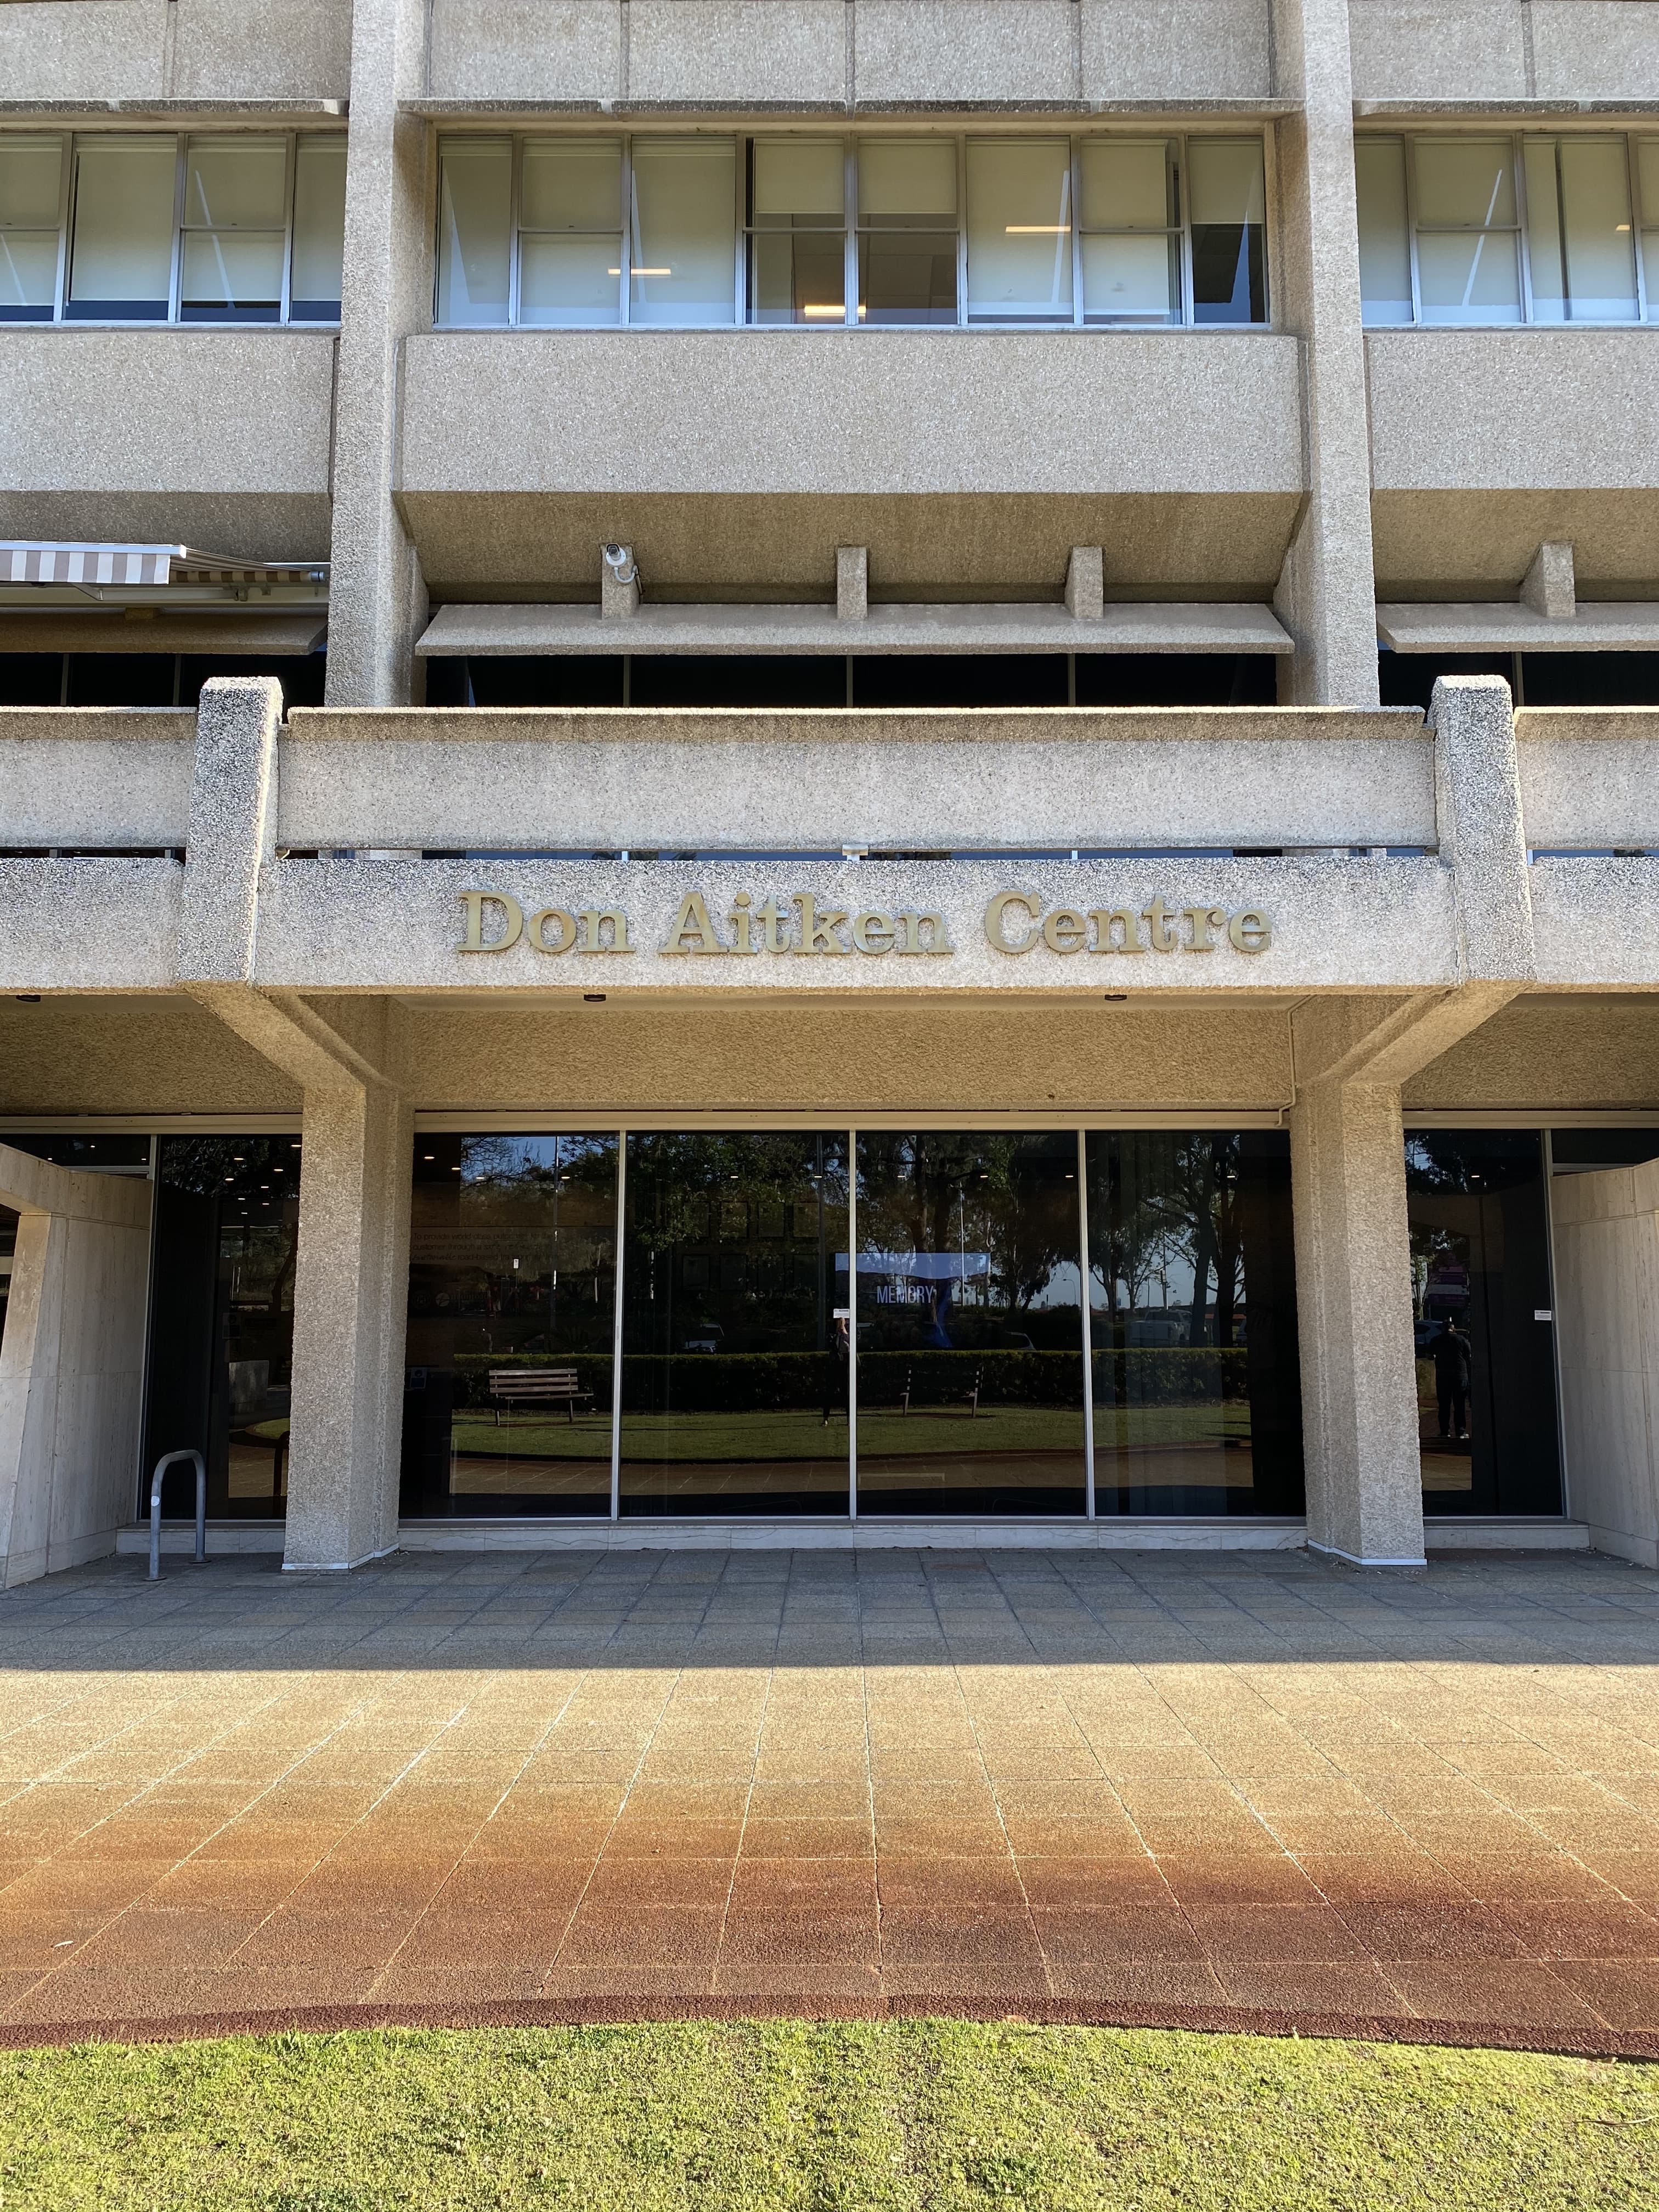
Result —
<instances>
[{"instance_id":1,"label":"upper-floor window strip at the right edge, right of the column","mask_svg":"<svg viewBox=\"0 0 1659 2212\"><path fill-rule=\"evenodd\" d=\"M1659 319L1659 137L1360 137L1367 325Z\"/></svg>"}]
</instances>

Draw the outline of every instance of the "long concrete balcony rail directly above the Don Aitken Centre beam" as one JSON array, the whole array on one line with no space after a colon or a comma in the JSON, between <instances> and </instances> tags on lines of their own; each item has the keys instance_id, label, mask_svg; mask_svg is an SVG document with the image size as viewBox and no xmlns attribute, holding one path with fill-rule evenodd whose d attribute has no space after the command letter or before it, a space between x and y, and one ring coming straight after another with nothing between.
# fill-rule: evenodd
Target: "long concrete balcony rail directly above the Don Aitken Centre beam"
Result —
<instances>
[{"instance_id":1,"label":"long concrete balcony rail directly above the Don Aitken Centre beam","mask_svg":"<svg viewBox=\"0 0 1659 2212\"><path fill-rule=\"evenodd\" d=\"M276 843L1433 845L1411 710L296 710Z\"/></svg>"}]
</instances>

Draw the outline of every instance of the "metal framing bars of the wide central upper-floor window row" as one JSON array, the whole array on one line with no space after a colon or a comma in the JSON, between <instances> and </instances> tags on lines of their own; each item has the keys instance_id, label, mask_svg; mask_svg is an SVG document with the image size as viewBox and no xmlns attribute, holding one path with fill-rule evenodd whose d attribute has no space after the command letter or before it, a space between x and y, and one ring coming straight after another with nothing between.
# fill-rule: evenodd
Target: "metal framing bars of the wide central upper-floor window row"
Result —
<instances>
[{"instance_id":1,"label":"metal framing bars of the wide central upper-floor window row","mask_svg":"<svg viewBox=\"0 0 1659 2212\"><path fill-rule=\"evenodd\" d=\"M440 215L434 219L434 268L431 268L431 327L434 330L931 330L931 332L1079 332L1088 330L1095 334L1104 332L1203 332L1203 330L1230 330L1230 332L1272 332L1274 323L1274 234L1276 234L1276 195L1274 195L1274 164L1272 164L1272 126L1256 128L1219 128L1219 131L1044 131L1042 119L1033 117L1020 131L949 131L938 133L956 148L956 321L953 323L867 323L860 316L858 301L858 241L863 237L863 226L858 219L858 142L874 137L918 137L933 135L918 131L916 124L894 131L790 131L790 128L750 128L750 131L699 131L699 128L653 128L653 131L626 131L626 128L595 128L595 131L447 131L438 139L438 179L436 179L436 210L442 208L442 161L445 150L462 144L480 146L484 142L507 142L509 146L509 239L507 239L507 321L504 323L445 323L438 319L438 299L442 288L442 221ZM1491 135L1491 133L1486 133ZM728 139L734 146L732 159L732 192L734 192L734 268L732 268L732 321L730 323L641 323L633 316L630 299L630 263L633 263L633 148L635 139L659 139L659 137L710 137ZM843 241L843 314L841 321L814 319L814 321L759 321L754 307L754 283L752 283L752 257L754 241L761 237L781 237L790 232L768 230L768 226L757 223L750 212L750 177L754 166L754 146L763 139L787 139L787 137L812 137L830 139L841 146L841 241ZM1002 142L1064 142L1068 148L1071 168L1071 319L1062 316L991 316L975 312L969 301L969 219L967 219L967 150L971 139L1002 139ZM524 148L531 139L619 139L622 164L619 164L619 195L622 206L617 212L617 228L622 234L619 254L619 276L617 276L617 314L615 321L593 321L593 323L526 323L522 316L522 241L526 237L522 221L522 175L524 175ZM1177 241L1179 259L1179 285L1177 285L1177 316L1124 316L1106 321L1099 314L1091 316L1084 303L1084 223L1082 223L1082 161L1084 146L1093 142L1113 139L1135 139L1141 144L1161 144L1166 148L1166 164L1172 170L1175 184L1175 223L1166 226L1164 237ZM1194 139L1221 142L1221 144L1250 144L1261 153L1263 168L1263 305L1265 314L1259 323L1201 323L1197 319L1197 303L1192 296L1194 272L1192 272L1192 188L1190 188L1190 146ZM940 226L945 228L945 226ZM825 223L823 234L834 234L836 226ZM531 232L540 237L542 232ZM1119 232L1093 232L1091 237L1117 237ZM1128 232L1124 232L1128 234ZM1135 232L1155 234L1155 232Z\"/></svg>"}]
</instances>

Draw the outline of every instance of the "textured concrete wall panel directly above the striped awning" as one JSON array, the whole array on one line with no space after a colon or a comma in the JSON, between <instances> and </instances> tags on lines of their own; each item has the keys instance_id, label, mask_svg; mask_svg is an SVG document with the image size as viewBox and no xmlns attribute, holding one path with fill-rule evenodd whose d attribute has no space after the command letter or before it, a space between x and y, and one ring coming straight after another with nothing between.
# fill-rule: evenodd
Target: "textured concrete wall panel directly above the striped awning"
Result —
<instances>
[{"instance_id":1,"label":"textured concrete wall panel directly above the striped awning","mask_svg":"<svg viewBox=\"0 0 1659 2212\"><path fill-rule=\"evenodd\" d=\"M327 560L325 332L0 330L0 389L9 538Z\"/></svg>"}]
</instances>

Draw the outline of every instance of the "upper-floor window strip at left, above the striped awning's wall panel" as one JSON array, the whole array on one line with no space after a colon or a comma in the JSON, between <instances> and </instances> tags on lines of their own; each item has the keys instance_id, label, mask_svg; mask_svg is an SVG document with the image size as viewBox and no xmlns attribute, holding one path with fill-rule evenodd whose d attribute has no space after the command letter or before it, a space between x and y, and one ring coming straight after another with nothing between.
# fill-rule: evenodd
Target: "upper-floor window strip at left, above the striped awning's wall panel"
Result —
<instances>
[{"instance_id":1,"label":"upper-floor window strip at left, above the striped awning's wall panel","mask_svg":"<svg viewBox=\"0 0 1659 2212\"><path fill-rule=\"evenodd\" d=\"M7 323L338 323L343 246L343 133L0 133Z\"/></svg>"}]
</instances>

